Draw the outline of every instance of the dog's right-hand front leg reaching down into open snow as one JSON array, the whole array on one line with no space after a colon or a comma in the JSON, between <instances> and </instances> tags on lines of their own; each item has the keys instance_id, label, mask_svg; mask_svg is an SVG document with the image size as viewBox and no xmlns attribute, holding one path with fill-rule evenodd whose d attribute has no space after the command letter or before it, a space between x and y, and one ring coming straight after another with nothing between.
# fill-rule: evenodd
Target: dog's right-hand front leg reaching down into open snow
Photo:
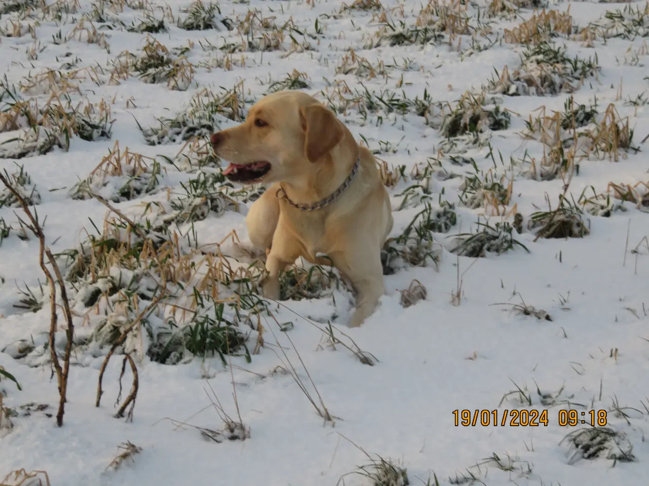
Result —
<instances>
[{"instance_id":1,"label":"dog's right-hand front leg reaching down into open snow","mask_svg":"<svg viewBox=\"0 0 649 486\"><path fill-rule=\"evenodd\" d=\"M356 291L356 310L349 319L349 327L358 327L371 316L381 295L386 292L380 249L337 251L330 257L336 268L349 278Z\"/></svg>"}]
</instances>

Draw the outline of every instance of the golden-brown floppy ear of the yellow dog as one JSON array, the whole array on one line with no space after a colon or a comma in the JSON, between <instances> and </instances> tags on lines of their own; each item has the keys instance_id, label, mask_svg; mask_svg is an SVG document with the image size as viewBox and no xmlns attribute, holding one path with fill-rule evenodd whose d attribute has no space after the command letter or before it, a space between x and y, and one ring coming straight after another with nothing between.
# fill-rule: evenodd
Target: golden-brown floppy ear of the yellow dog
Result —
<instances>
[{"instance_id":1,"label":"golden-brown floppy ear of the yellow dog","mask_svg":"<svg viewBox=\"0 0 649 486\"><path fill-rule=\"evenodd\" d=\"M304 152L310 162L317 162L343 139L343 128L334 112L323 104L300 109L302 128L306 132Z\"/></svg>"}]
</instances>

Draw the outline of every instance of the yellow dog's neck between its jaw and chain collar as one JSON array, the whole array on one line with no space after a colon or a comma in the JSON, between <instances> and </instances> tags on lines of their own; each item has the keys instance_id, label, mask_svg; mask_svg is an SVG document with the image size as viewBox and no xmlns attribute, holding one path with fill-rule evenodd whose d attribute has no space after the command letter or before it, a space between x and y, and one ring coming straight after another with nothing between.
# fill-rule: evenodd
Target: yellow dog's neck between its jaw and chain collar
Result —
<instances>
[{"instance_id":1,"label":"yellow dog's neck between its jaw and chain collar","mask_svg":"<svg viewBox=\"0 0 649 486\"><path fill-rule=\"evenodd\" d=\"M317 170L312 174L301 180L280 183L280 192L284 192L287 202L305 210L319 209L334 202L360 170L360 148L355 141L353 147L346 145L339 144L326 158L315 162ZM350 158L350 154L354 158ZM330 200L332 197L334 200Z\"/></svg>"}]
</instances>

